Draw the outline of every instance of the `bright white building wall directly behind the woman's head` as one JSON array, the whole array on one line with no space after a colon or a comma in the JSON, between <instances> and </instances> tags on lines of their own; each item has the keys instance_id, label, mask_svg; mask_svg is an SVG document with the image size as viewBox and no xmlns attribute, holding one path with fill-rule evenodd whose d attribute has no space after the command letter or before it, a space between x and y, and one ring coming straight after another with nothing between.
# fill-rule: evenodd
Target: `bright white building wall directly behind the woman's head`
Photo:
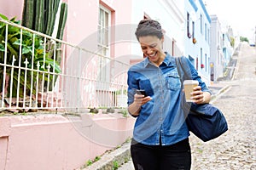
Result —
<instances>
[{"instance_id":1,"label":"bright white building wall directly behind the woman's head","mask_svg":"<svg viewBox=\"0 0 256 170\"><path fill-rule=\"evenodd\" d=\"M143 20L144 14L151 19L158 20L162 29L166 31L164 48L172 54L172 39L176 41L177 54L183 51L183 3L182 1L168 0L134 0L132 3L132 19L131 22L136 26L140 20ZM134 43L131 50L132 54L142 54L138 43Z\"/></svg>"}]
</instances>

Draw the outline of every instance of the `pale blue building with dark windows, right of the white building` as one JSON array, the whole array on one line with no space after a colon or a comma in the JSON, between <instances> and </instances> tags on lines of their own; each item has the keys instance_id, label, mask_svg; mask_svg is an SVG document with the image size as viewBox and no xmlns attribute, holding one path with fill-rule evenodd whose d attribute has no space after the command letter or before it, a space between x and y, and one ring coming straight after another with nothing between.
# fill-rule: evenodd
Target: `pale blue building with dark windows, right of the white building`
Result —
<instances>
[{"instance_id":1,"label":"pale blue building with dark windows, right of the white building","mask_svg":"<svg viewBox=\"0 0 256 170\"><path fill-rule=\"evenodd\" d=\"M210 83L211 18L201 0L185 1L184 56L195 65L202 80Z\"/></svg>"}]
</instances>

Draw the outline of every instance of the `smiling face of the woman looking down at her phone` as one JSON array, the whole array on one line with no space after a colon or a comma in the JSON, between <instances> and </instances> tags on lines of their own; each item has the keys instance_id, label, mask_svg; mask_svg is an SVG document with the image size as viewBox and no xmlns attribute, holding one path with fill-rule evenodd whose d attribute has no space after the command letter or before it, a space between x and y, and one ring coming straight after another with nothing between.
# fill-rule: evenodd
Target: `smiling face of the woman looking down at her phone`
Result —
<instances>
[{"instance_id":1,"label":"smiling face of the woman looking down at her phone","mask_svg":"<svg viewBox=\"0 0 256 170\"><path fill-rule=\"evenodd\" d=\"M159 39L156 36L139 37L139 42L144 56L156 65L160 65L165 59L166 54L162 49L164 38Z\"/></svg>"}]
</instances>

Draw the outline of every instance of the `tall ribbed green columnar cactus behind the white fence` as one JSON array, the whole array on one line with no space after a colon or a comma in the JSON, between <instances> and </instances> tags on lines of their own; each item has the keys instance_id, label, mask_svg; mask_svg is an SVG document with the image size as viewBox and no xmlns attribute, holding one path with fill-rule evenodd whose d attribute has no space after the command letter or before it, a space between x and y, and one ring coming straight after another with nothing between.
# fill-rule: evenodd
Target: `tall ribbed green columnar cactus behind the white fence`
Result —
<instances>
[{"instance_id":1,"label":"tall ribbed green columnar cactus behind the white fence","mask_svg":"<svg viewBox=\"0 0 256 170\"><path fill-rule=\"evenodd\" d=\"M26 26L34 31L42 32L50 37L62 40L64 28L67 22L67 3L60 0L24 0L22 11L22 26ZM58 10L60 13L58 14ZM56 20L59 18L59 20ZM58 21L58 22L57 22ZM56 35L53 35L56 28ZM46 40L46 52L49 59L61 64L61 42ZM56 79L54 80L55 84ZM53 88L52 83L49 88Z\"/></svg>"}]
</instances>

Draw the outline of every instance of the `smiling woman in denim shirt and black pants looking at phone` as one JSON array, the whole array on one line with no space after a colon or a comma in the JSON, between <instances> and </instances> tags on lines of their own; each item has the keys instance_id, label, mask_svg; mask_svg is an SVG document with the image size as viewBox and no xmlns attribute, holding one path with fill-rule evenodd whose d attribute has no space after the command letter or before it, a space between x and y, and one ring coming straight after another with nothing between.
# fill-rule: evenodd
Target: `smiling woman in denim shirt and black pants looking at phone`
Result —
<instances>
[{"instance_id":1,"label":"smiling woman in denim shirt and black pants looking at phone","mask_svg":"<svg viewBox=\"0 0 256 170\"><path fill-rule=\"evenodd\" d=\"M183 89L175 58L163 51L164 36L156 20L141 20L136 31L145 59L128 71L128 111L137 117L131 142L135 169L190 169L189 130L181 108ZM195 67L188 65L199 86L191 99L209 103L211 94ZM137 93L145 90L146 95Z\"/></svg>"}]
</instances>

